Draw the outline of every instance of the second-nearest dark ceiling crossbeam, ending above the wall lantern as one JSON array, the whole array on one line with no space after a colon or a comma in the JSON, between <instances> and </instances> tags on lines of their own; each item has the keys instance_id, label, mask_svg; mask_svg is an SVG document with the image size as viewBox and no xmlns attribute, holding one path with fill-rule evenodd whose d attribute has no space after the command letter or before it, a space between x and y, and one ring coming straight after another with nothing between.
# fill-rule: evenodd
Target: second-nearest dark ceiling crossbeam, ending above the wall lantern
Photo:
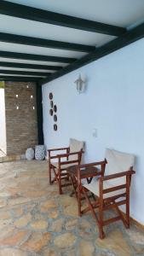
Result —
<instances>
[{"instance_id":1,"label":"second-nearest dark ceiling crossbeam, ending above the wall lantern","mask_svg":"<svg viewBox=\"0 0 144 256\"><path fill-rule=\"evenodd\" d=\"M0 6L1 9L1 6ZM10 44L23 44L31 45L44 48L52 49L66 49L74 50L79 52L90 52L95 49L95 46L89 46L85 44L73 44L60 42L55 40L43 39L43 38L31 38L26 36L14 35L9 33L0 32L0 42L10 43Z\"/></svg>"}]
</instances>

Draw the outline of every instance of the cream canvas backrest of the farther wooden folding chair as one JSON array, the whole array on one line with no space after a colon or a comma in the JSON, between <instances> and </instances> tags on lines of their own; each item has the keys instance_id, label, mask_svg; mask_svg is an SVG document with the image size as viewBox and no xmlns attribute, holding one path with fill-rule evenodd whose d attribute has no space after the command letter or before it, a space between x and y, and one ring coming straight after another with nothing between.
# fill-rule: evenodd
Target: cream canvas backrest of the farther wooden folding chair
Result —
<instances>
[{"instance_id":1,"label":"cream canvas backrest of the farther wooden folding chair","mask_svg":"<svg viewBox=\"0 0 144 256\"><path fill-rule=\"evenodd\" d=\"M84 142L80 142L76 139L70 138L70 153L79 152L84 148ZM78 160L78 154L69 156L69 160Z\"/></svg>"}]
</instances>

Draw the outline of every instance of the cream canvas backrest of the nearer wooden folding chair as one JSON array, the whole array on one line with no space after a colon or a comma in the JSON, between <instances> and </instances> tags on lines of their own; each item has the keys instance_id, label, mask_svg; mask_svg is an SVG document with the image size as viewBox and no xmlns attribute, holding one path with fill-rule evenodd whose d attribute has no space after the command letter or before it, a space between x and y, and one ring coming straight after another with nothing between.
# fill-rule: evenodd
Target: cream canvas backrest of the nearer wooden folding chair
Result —
<instances>
[{"instance_id":1,"label":"cream canvas backrest of the nearer wooden folding chair","mask_svg":"<svg viewBox=\"0 0 144 256\"><path fill-rule=\"evenodd\" d=\"M129 171L130 167L135 164L135 156L133 154L119 152L110 148L106 149L106 159L106 175ZM125 177L114 178L108 182L113 183L113 185L124 184Z\"/></svg>"}]
</instances>

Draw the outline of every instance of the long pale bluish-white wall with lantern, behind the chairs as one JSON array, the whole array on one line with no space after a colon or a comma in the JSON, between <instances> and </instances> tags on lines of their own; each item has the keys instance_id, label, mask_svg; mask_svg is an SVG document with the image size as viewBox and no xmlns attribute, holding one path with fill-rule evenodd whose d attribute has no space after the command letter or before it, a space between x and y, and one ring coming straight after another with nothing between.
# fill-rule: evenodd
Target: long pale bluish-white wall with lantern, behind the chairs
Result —
<instances>
[{"instance_id":1,"label":"long pale bluish-white wall with lantern, behind the chairs","mask_svg":"<svg viewBox=\"0 0 144 256\"><path fill-rule=\"evenodd\" d=\"M88 89L78 95L78 73ZM49 92L58 112L58 131L49 115ZM97 137L93 137L93 129ZM47 148L86 142L85 161L104 158L105 148L136 155L131 216L144 224L144 39L43 85L43 132Z\"/></svg>"}]
</instances>

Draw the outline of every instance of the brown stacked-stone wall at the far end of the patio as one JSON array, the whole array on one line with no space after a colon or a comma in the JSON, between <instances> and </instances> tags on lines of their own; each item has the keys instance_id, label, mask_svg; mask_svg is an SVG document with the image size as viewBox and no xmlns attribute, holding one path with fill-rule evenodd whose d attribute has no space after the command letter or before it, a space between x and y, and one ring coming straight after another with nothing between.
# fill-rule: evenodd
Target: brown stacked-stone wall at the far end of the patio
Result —
<instances>
[{"instance_id":1,"label":"brown stacked-stone wall at the far end of the patio","mask_svg":"<svg viewBox=\"0 0 144 256\"><path fill-rule=\"evenodd\" d=\"M7 154L25 154L37 144L36 85L5 82Z\"/></svg>"}]
</instances>

